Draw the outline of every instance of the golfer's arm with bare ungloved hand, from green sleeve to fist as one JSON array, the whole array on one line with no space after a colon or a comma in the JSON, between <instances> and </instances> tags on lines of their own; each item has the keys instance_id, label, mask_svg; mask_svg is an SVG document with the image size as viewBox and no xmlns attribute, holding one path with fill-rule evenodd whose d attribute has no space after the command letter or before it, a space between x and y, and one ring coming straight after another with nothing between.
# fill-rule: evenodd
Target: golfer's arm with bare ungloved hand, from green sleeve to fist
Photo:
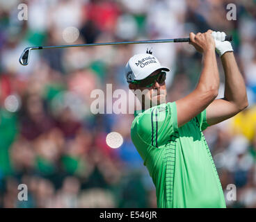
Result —
<instances>
[{"instance_id":1,"label":"golfer's arm with bare ungloved hand, from green sleeve to fist","mask_svg":"<svg viewBox=\"0 0 256 222\"><path fill-rule=\"evenodd\" d=\"M202 72L197 87L182 99L176 101L178 127L193 119L207 108L218 95L219 76L215 55L215 42L207 33L190 33L191 44L202 53Z\"/></svg>"}]
</instances>

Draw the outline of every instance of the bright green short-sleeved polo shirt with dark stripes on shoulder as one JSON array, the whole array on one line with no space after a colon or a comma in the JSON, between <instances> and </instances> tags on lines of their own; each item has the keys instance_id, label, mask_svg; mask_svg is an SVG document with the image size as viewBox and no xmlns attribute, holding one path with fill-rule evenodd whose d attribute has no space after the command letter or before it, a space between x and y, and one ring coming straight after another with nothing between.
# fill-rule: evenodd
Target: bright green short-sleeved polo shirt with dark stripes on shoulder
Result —
<instances>
[{"instance_id":1,"label":"bright green short-sleeved polo shirt with dark stripes on shoulder","mask_svg":"<svg viewBox=\"0 0 256 222\"><path fill-rule=\"evenodd\" d=\"M226 207L202 130L206 110L178 128L176 103L135 112L131 140L157 192L157 207Z\"/></svg>"}]
</instances>

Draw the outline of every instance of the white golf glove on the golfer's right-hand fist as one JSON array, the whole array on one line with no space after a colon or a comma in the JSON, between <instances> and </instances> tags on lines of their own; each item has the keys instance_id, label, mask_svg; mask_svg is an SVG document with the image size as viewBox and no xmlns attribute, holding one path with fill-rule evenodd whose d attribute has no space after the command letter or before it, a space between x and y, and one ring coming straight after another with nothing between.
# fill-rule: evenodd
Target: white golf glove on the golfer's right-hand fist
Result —
<instances>
[{"instance_id":1,"label":"white golf glove on the golfer's right-hand fist","mask_svg":"<svg viewBox=\"0 0 256 222\"><path fill-rule=\"evenodd\" d=\"M229 41L224 41L226 34L224 32L212 32L212 37L214 37L215 45L216 45L216 52L218 56L222 56L227 51L234 51L232 49L232 45Z\"/></svg>"}]
</instances>

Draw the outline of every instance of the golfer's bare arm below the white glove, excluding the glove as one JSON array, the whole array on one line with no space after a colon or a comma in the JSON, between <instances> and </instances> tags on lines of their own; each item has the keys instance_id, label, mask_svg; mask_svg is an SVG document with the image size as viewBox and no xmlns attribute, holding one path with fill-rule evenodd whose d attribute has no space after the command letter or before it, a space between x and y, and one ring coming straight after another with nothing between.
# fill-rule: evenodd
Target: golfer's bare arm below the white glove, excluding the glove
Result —
<instances>
[{"instance_id":1,"label":"golfer's bare arm below the white glove, excluding the glove","mask_svg":"<svg viewBox=\"0 0 256 222\"><path fill-rule=\"evenodd\" d=\"M216 99L207 107L209 126L233 117L248 106L246 85L243 80L233 52L221 56L225 71L225 94L223 99Z\"/></svg>"}]
</instances>

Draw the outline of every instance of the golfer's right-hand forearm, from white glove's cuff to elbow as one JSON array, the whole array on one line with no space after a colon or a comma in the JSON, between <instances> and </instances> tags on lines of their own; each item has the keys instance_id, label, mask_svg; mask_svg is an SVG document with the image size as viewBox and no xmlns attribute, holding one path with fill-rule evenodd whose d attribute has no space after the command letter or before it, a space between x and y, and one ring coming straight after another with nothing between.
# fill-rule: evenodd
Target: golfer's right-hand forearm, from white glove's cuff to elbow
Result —
<instances>
[{"instance_id":1,"label":"golfer's right-hand forearm, from white glove's cuff to elbow","mask_svg":"<svg viewBox=\"0 0 256 222\"><path fill-rule=\"evenodd\" d=\"M221 62L225 71L224 99L234 103L239 110L248 106L246 85L243 76L237 67L233 52L227 52L221 56Z\"/></svg>"}]
</instances>

